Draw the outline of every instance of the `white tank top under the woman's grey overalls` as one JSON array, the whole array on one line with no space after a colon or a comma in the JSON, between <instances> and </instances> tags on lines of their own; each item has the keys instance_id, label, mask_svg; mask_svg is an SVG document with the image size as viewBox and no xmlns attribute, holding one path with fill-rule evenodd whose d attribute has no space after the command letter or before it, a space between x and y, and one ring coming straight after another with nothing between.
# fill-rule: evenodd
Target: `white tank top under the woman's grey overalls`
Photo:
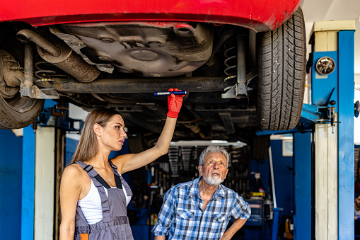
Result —
<instances>
[{"instance_id":1,"label":"white tank top under the woman's grey overalls","mask_svg":"<svg viewBox=\"0 0 360 240\"><path fill-rule=\"evenodd\" d=\"M106 196L108 196L108 189L105 189ZM116 188L116 187L111 187ZM122 186L122 190L124 191L124 195L127 200L127 205L129 204L132 196L128 196L127 192ZM78 205L83 212L83 215L86 218L88 224L95 224L96 222L100 222L103 220L103 208L101 207L101 198L98 192L98 189L95 187L93 180L91 180L91 188L88 191L88 194L81 200L78 201Z\"/></svg>"}]
</instances>

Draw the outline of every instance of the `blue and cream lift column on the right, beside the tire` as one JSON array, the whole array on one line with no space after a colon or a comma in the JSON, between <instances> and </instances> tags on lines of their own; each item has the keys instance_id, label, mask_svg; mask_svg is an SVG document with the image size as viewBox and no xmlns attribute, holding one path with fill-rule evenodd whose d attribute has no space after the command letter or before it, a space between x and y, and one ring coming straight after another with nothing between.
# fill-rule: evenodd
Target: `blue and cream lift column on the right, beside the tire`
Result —
<instances>
[{"instance_id":1,"label":"blue and cream lift column on the right, beside the tire","mask_svg":"<svg viewBox=\"0 0 360 240\"><path fill-rule=\"evenodd\" d=\"M314 23L300 124L258 133L294 135L294 239L354 239L354 30L355 21Z\"/></svg>"}]
</instances>

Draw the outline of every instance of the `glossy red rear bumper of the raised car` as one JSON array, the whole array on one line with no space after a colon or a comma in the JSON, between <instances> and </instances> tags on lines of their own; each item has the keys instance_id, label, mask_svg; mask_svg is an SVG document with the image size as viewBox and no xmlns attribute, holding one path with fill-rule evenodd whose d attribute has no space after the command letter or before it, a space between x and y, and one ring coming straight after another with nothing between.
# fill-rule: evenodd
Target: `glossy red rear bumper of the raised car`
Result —
<instances>
[{"instance_id":1,"label":"glossy red rear bumper of the raised car","mask_svg":"<svg viewBox=\"0 0 360 240\"><path fill-rule=\"evenodd\" d=\"M3 1L0 21L23 21L33 26L99 21L197 21L240 25L262 32L279 27L299 4L300 0Z\"/></svg>"}]
</instances>

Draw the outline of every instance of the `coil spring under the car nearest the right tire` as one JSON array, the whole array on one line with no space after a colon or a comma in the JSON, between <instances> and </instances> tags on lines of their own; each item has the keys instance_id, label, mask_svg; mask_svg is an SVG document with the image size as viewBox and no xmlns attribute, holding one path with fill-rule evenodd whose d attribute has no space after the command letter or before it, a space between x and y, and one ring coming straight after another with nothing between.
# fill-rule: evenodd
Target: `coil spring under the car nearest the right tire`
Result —
<instances>
[{"instance_id":1,"label":"coil spring under the car nearest the right tire","mask_svg":"<svg viewBox=\"0 0 360 240\"><path fill-rule=\"evenodd\" d=\"M237 69L238 69L238 48L236 47L236 40L228 40L225 42L225 52L223 55L225 56L225 60L223 63L226 66L226 69L223 71L228 77L223 79L226 83L229 84L228 87L224 88L223 91L228 91L228 89L232 88L234 84L236 84L237 78Z\"/></svg>"}]
</instances>

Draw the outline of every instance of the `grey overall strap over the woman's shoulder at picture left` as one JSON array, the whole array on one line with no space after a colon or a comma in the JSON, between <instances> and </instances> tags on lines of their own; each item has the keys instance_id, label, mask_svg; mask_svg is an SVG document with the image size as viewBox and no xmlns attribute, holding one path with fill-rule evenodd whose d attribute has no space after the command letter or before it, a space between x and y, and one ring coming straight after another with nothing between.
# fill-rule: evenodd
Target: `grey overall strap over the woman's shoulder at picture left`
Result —
<instances>
[{"instance_id":1,"label":"grey overall strap over the woman's shoulder at picture left","mask_svg":"<svg viewBox=\"0 0 360 240\"><path fill-rule=\"evenodd\" d=\"M110 207L109 207L108 197L106 196L105 189L103 188L103 187L111 188L110 185L108 185L108 183L106 183L105 180L101 178L101 176L95 171L93 166L86 165L82 161L76 161L76 164L79 164L81 167L83 167L83 170L85 170L88 173L88 176L90 176L93 179L93 183L95 187L98 188L98 192L101 199L101 207L103 208L103 222L110 222ZM101 183L99 180L104 181L105 184L108 185L108 187L103 183Z\"/></svg>"}]
</instances>

